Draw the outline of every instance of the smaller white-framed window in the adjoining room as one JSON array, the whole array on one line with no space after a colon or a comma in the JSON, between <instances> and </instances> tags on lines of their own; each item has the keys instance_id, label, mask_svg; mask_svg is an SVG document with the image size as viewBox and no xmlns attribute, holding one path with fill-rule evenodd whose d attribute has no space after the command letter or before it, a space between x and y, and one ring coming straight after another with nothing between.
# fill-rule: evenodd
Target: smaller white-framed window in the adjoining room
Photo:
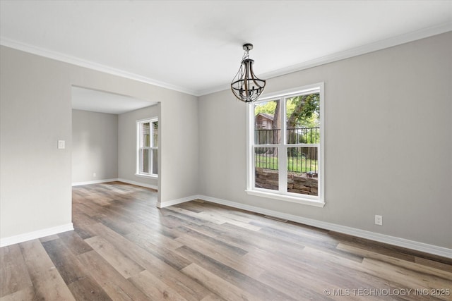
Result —
<instances>
[{"instance_id":1,"label":"smaller white-framed window in the adjoining room","mask_svg":"<svg viewBox=\"0 0 452 301\"><path fill-rule=\"evenodd\" d=\"M136 174L157 177L158 175L158 120L151 118L136 121L137 156Z\"/></svg>"}]
</instances>

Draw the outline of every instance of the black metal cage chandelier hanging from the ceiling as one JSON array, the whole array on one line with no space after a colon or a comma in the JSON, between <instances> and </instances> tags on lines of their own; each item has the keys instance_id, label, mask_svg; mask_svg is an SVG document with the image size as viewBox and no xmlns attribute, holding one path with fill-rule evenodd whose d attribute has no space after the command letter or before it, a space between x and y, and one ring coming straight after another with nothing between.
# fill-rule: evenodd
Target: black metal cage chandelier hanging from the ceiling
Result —
<instances>
[{"instance_id":1,"label":"black metal cage chandelier hanging from the ceiling","mask_svg":"<svg viewBox=\"0 0 452 301\"><path fill-rule=\"evenodd\" d=\"M253 44L244 44L243 49L245 54L240 63L239 72L232 80L231 90L234 96L242 102L254 102L266 87L266 80L261 80L254 75L254 60L249 59L249 51L253 49Z\"/></svg>"}]
</instances>

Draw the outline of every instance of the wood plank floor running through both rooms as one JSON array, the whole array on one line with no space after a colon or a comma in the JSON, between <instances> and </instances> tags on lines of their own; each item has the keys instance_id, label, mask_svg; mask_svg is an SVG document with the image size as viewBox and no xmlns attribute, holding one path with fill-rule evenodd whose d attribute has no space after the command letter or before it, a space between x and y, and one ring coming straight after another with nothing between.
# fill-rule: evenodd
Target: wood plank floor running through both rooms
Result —
<instances>
[{"instance_id":1,"label":"wood plank floor running through both rooms","mask_svg":"<svg viewBox=\"0 0 452 301\"><path fill-rule=\"evenodd\" d=\"M75 231L0 249L0 300L451 300L451 259L156 198L73 188Z\"/></svg>"}]
</instances>

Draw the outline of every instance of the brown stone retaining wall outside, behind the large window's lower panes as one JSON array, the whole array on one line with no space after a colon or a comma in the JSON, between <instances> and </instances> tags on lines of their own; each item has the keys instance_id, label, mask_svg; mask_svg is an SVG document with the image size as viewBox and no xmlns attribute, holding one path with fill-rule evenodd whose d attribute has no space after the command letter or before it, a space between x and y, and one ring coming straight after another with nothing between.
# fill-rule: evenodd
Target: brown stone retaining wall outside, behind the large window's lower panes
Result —
<instances>
[{"instance_id":1,"label":"brown stone retaining wall outside, behind the large window's lower panes","mask_svg":"<svg viewBox=\"0 0 452 301\"><path fill-rule=\"evenodd\" d=\"M287 191L303 195L317 195L316 176L308 178L306 173L287 173ZM256 187L278 190L278 171L256 168Z\"/></svg>"}]
</instances>

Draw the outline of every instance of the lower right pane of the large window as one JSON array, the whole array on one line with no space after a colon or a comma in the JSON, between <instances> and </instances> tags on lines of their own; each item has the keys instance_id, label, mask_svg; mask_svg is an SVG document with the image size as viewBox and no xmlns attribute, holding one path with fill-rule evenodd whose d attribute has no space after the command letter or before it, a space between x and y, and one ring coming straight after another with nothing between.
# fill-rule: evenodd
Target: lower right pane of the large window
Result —
<instances>
[{"instance_id":1,"label":"lower right pane of the large window","mask_svg":"<svg viewBox=\"0 0 452 301\"><path fill-rule=\"evenodd\" d=\"M287 148L287 192L318 195L319 148Z\"/></svg>"}]
</instances>

